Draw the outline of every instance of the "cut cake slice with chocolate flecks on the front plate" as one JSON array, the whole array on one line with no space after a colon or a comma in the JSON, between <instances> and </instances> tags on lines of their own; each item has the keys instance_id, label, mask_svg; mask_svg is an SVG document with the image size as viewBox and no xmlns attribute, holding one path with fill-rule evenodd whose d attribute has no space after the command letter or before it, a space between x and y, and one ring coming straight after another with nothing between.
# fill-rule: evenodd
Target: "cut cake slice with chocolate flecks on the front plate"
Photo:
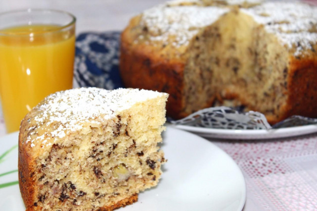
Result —
<instances>
[{"instance_id":1,"label":"cut cake slice with chocolate flecks on the front plate","mask_svg":"<svg viewBox=\"0 0 317 211\"><path fill-rule=\"evenodd\" d=\"M22 120L19 185L27 211L111 211L158 184L167 94L57 92Z\"/></svg>"}]
</instances>

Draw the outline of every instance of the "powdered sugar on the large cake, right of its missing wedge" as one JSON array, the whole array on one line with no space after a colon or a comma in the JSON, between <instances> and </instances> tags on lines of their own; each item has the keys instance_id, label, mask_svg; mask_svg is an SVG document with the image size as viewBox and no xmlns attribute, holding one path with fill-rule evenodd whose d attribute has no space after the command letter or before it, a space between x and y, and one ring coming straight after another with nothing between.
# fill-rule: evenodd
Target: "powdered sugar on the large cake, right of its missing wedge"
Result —
<instances>
[{"instance_id":1,"label":"powdered sugar on the large cake, right of its missing wedge","mask_svg":"<svg viewBox=\"0 0 317 211\"><path fill-rule=\"evenodd\" d=\"M265 29L278 36L288 48L296 48L295 55L317 42L317 7L300 2L265 2L242 9L252 15Z\"/></svg>"}]
</instances>

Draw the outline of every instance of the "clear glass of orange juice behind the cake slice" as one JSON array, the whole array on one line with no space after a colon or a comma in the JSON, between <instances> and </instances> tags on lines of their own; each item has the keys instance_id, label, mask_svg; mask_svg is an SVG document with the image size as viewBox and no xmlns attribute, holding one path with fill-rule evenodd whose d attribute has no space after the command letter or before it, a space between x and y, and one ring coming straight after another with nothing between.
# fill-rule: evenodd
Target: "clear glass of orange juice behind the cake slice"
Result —
<instances>
[{"instance_id":1,"label":"clear glass of orange juice behind the cake slice","mask_svg":"<svg viewBox=\"0 0 317 211\"><path fill-rule=\"evenodd\" d=\"M0 99L7 132L49 94L71 89L76 18L28 9L0 13Z\"/></svg>"}]
</instances>

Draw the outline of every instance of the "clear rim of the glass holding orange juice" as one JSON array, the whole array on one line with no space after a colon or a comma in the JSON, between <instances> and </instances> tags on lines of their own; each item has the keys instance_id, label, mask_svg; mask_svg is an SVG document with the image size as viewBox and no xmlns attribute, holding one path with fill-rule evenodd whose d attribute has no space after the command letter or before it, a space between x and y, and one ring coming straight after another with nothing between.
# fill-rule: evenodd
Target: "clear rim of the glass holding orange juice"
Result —
<instances>
[{"instance_id":1,"label":"clear rim of the glass holding orange juice","mask_svg":"<svg viewBox=\"0 0 317 211\"><path fill-rule=\"evenodd\" d=\"M58 32L61 31L65 28L68 28L69 26L75 24L76 22L76 17L71 14L70 12L66 12L63 10L58 10L58 9L47 9L47 8L28 8L28 9L18 9L18 10L10 10L10 11L5 11L5 12L0 12L0 18L4 15L10 15L10 14L18 14L18 13L22 13L25 12L26 14L31 14L32 12L54 12L54 13L59 13L59 14L65 14L68 15L71 20L69 22L67 22L66 24L62 24L62 25L57 25L56 28L54 29L50 29L47 31L43 31L43 32L37 32L36 35L41 35L41 34L47 34L47 33L52 33L52 32ZM29 24L32 25L32 24ZM6 32L3 29L0 29L0 36L28 36L30 33L29 32L20 32L20 33L16 33L16 32Z\"/></svg>"}]
</instances>

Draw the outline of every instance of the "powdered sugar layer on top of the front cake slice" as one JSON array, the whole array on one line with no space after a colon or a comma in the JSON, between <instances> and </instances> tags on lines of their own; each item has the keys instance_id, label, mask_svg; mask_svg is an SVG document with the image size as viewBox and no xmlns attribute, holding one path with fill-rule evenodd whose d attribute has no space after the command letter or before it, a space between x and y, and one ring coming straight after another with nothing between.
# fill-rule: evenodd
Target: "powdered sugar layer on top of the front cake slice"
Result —
<instances>
[{"instance_id":1,"label":"powdered sugar layer on top of the front cake slice","mask_svg":"<svg viewBox=\"0 0 317 211\"><path fill-rule=\"evenodd\" d=\"M30 121L37 126L28 128L26 143L31 141L31 147L34 147L37 142L46 144L47 137L63 138L66 131L81 129L84 123L99 125L115 116L117 111L160 95L163 93L138 89L109 91L99 88L79 88L54 93L35 107L38 115ZM39 128L45 132L32 139L36 127L37 132ZM50 142L47 144L52 145Z\"/></svg>"}]
</instances>

